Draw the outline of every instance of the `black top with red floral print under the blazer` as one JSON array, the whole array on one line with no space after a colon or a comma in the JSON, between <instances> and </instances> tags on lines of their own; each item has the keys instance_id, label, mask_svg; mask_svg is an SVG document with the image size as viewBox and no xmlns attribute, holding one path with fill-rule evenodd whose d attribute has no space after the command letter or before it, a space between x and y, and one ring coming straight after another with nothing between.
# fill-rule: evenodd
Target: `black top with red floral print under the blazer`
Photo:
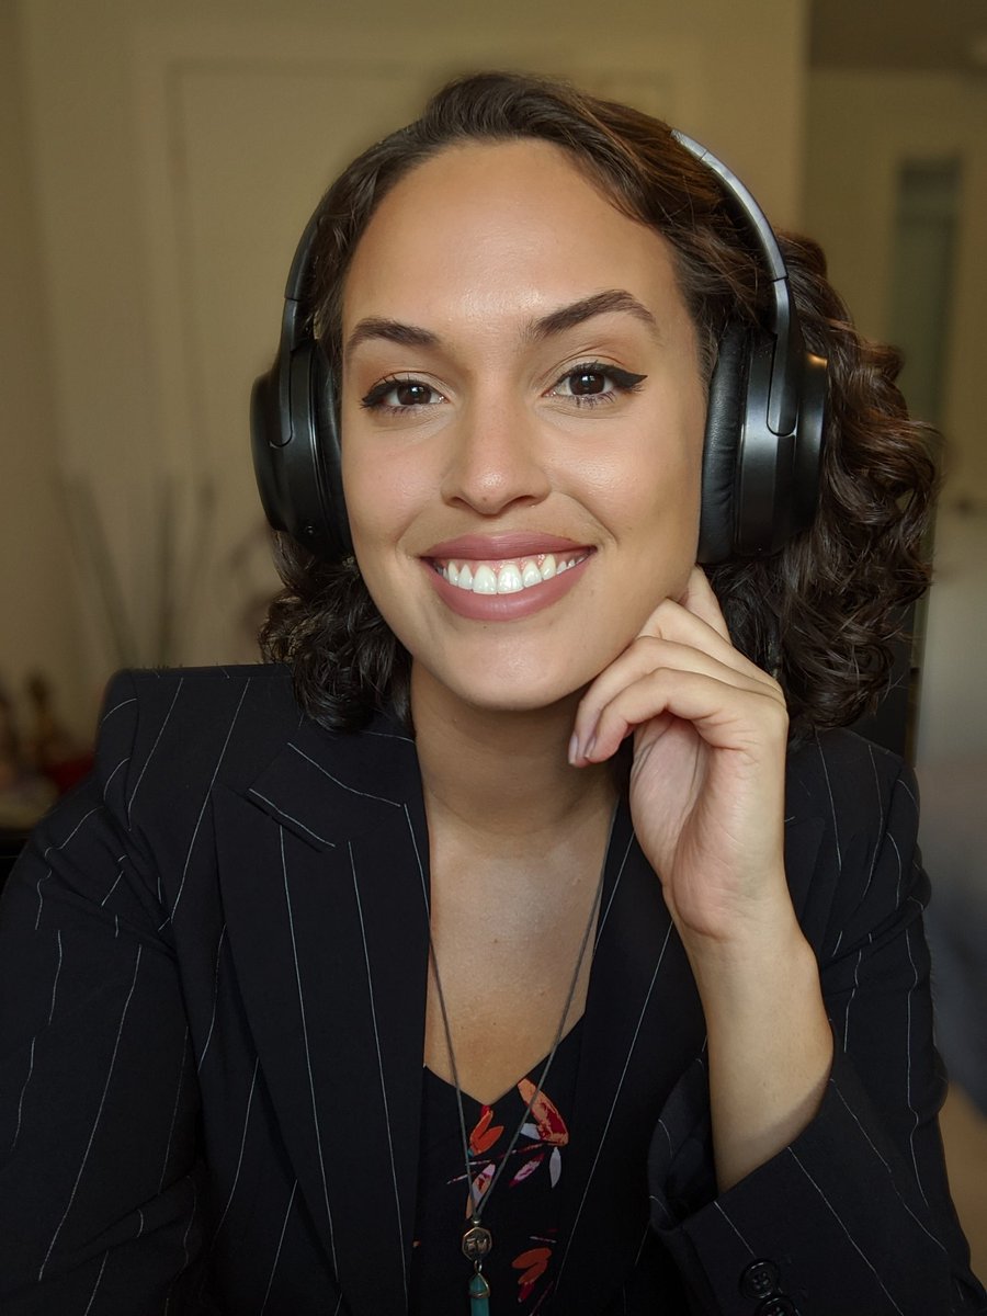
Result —
<instances>
[{"instance_id":1,"label":"black top with red floral print under the blazer","mask_svg":"<svg viewBox=\"0 0 987 1316\"><path fill-rule=\"evenodd\" d=\"M492 1311L536 1316L551 1294L569 1145L566 1113L575 1096L582 1030L580 1021L563 1037L544 1092L536 1087L542 1061L491 1105L463 1094L470 1179L476 1199L490 1188L534 1098L482 1213L484 1228L494 1236L483 1266ZM426 1069L411 1316L467 1316L472 1266L461 1252L461 1240L470 1209L455 1088Z\"/></svg>"}]
</instances>

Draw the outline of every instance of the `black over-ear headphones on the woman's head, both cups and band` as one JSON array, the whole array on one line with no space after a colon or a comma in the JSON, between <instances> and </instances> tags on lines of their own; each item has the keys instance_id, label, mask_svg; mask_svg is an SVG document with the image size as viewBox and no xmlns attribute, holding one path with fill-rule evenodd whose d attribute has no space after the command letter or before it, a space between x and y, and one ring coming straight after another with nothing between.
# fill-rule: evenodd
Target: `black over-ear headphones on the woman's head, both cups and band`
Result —
<instances>
[{"instance_id":1,"label":"black over-ear headphones on the woman's head, both cups and band","mask_svg":"<svg viewBox=\"0 0 987 1316\"><path fill-rule=\"evenodd\" d=\"M720 179L763 257L763 324L728 326L709 382L697 559L776 551L812 521L819 497L826 362L805 350L788 271L761 207L705 147L675 139ZM305 292L321 207L301 234L284 290L278 357L254 384L250 434L267 520L326 562L353 553L342 492L338 407Z\"/></svg>"}]
</instances>

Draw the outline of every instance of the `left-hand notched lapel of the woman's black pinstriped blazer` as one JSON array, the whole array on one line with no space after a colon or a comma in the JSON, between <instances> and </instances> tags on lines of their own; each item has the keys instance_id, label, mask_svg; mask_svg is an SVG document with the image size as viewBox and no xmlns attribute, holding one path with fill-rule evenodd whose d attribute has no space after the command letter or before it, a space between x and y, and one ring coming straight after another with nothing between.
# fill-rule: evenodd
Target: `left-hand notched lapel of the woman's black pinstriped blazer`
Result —
<instances>
[{"instance_id":1,"label":"left-hand notched lapel of the woman's black pinstriped blazer","mask_svg":"<svg viewBox=\"0 0 987 1316\"><path fill-rule=\"evenodd\" d=\"M413 742L305 722L216 799L222 899L261 1069L349 1309L407 1307L428 971Z\"/></svg>"}]
</instances>

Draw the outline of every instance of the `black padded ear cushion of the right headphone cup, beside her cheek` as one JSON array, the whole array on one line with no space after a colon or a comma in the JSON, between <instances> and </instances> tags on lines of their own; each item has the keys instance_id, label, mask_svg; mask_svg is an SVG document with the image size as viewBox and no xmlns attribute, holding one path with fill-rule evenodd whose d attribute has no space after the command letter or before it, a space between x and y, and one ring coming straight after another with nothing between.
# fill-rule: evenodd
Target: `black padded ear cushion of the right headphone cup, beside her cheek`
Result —
<instances>
[{"instance_id":1,"label":"black padded ear cushion of the right headphone cup, beside her cheek","mask_svg":"<svg viewBox=\"0 0 987 1316\"><path fill-rule=\"evenodd\" d=\"M696 561L704 565L725 562L733 555L749 363L749 336L740 325L730 325L720 340L707 404L696 553Z\"/></svg>"}]
</instances>

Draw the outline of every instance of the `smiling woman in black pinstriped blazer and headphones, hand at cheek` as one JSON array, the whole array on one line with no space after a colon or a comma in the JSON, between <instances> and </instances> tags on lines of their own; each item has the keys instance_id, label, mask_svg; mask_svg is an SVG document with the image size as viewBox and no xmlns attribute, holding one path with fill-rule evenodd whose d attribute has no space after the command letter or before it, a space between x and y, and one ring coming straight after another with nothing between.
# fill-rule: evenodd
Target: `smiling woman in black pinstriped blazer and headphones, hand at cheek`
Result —
<instances>
[{"instance_id":1,"label":"smiling woman in black pinstriped blazer and headphones, hand at cheek","mask_svg":"<svg viewBox=\"0 0 987 1316\"><path fill-rule=\"evenodd\" d=\"M4 1312L983 1309L913 779L840 729L926 578L895 368L626 107L472 76L343 171L271 661L118 676L9 883Z\"/></svg>"}]
</instances>

